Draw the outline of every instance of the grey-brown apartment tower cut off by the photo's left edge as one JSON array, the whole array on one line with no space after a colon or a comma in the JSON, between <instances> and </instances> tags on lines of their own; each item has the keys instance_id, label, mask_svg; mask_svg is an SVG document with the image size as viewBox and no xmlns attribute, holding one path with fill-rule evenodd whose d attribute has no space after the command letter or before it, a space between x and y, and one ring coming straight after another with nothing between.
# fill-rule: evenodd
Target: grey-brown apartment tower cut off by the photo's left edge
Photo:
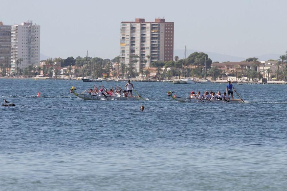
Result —
<instances>
[{"instance_id":1,"label":"grey-brown apartment tower cut off by the photo's left edge","mask_svg":"<svg viewBox=\"0 0 287 191\"><path fill-rule=\"evenodd\" d=\"M11 26L0 21L0 64L11 62Z\"/></svg>"}]
</instances>

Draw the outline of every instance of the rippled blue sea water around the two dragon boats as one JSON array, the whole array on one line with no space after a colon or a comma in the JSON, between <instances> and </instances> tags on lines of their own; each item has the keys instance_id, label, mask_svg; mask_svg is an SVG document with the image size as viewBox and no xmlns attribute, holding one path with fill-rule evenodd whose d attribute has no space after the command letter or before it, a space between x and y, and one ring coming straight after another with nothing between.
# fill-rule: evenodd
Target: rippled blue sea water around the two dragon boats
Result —
<instances>
[{"instance_id":1,"label":"rippled blue sea water around the two dragon boats","mask_svg":"<svg viewBox=\"0 0 287 191\"><path fill-rule=\"evenodd\" d=\"M234 84L247 103L208 104L166 92L226 84L134 82L139 101L82 100L69 88L93 83L76 80L0 84L16 105L0 106L0 190L287 190L286 85Z\"/></svg>"}]
</instances>

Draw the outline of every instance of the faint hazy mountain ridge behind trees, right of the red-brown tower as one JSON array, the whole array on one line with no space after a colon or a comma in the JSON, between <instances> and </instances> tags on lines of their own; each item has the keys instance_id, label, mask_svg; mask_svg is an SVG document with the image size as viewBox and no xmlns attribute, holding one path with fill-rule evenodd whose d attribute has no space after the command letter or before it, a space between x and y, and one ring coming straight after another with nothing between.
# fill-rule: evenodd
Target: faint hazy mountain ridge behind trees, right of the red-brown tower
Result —
<instances>
[{"instance_id":1,"label":"faint hazy mountain ridge behind trees, right of the red-brown tower","mask_svg":"<svg viewBox=\"0 0 287 191\"><path fill-rule=\"evenodd\" d=\"M208 54L208 58L210 58L212 60L212 62L226 62L226 61L230 61L230 62L241 62L243 60L246 60L249 57L239 57L239 56L230 56L230 55L225 55L225 54L218 54L215 52L205 52L205 51L199 51L199 50L191 50L188 49L186 50L186 56L188 57L190 54L192 54L193 52L204 52L206 54ZM184 50L174 50L174 56L178 56L179 59L182 59L184 56ZM260 61L267 61L269 59L275 59L277 60L279 58L280 54L263 54L261 56L254 56L256 58L258 58Z\"/></svg>"}]
</instances>

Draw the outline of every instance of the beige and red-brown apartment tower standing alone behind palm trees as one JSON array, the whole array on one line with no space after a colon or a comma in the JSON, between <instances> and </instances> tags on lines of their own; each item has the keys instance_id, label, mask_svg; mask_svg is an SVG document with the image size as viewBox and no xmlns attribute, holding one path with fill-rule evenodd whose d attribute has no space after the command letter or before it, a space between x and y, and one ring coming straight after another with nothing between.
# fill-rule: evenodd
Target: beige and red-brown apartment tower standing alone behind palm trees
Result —
<instances>
[{"instance_id":1,"label":"beige and red-brown apartment tower standing alone behind palm trees","mask_svg":"<svg viewBox=\"0 0 287 191\"><path fill-rule=\"evenodd\" d=\"M155 19L154 22L145 22L145 19L121 22L120 26L120 63L128 65L132 62L130 56L137 55L139 60L133 63L133 70L149 67L153 61L173 60L174 23L165 22L165 19Z\"/></svg>"}]
</instances>

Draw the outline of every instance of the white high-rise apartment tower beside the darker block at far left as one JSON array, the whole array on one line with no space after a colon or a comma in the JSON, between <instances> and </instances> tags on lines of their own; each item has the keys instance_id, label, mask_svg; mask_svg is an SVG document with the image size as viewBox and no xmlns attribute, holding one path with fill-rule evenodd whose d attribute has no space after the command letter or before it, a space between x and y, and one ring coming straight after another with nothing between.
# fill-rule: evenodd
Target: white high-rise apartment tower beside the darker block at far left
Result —
<instances>
[{"instance_id":1,"label":"white high-rise apartment tower beside the darker block at far left","mask_svg":"<svg viewBox=\"0 0 287 191\"><path fill-rule=\"evenodd\" d=\"M16 60L20 58L22 69L40 65L40 25L33 25L32 21L11 28L11 72L15 72Z\"/></svg>"}]
</instances>

